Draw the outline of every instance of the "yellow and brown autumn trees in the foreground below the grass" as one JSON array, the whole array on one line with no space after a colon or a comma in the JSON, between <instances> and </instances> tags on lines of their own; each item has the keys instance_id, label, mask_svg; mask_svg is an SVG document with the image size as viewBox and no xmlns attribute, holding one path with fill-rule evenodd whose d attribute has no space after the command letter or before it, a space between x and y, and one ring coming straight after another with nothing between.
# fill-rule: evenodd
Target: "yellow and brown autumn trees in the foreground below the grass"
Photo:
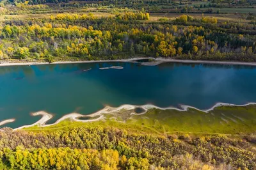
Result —
<instances>
[{"instance_id":1,"label":"yellow and brown autumn trees in the foreground below the grass","mask_svg":"<svg viewBox=\"0 0 256 170\"><path fill-rule=\"evenodd\" d=\"M51 132L0 131L1 169L255 169L246 139L132 134L81 127ZM255 149L255 148L254 148Z\"/></svg>"}]
</instances>

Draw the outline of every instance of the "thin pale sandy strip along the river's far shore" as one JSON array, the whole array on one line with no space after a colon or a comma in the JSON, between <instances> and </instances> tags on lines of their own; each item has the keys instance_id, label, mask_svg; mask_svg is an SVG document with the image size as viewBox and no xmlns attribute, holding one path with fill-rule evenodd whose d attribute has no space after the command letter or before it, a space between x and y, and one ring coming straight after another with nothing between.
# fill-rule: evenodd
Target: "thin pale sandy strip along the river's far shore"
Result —
<instances>
[{"instance_id":1,"label":"thin pale sandy strip along the river's far shore","mask_svg":"<svg viewBox=\"0 0 256 170\"><path fill-rule=\"evenodd\" d=\"M91 61L56 61L53 63L47 62L8 62L0 61L0 66L17 66L17 65L57 65L57 64L72 64L72 63L103 63L103 62L132 62L139 63L140 59L154 59L154 61L143 62L141 65L156 66L161 63L191 63L191 64L216 64L216 65L248 65L256 66L256 62L243 62L243 61L210 61L210 60L191 60L191 59L166 59L166 58L130 58L130 59L115 59L115 60L91 60Z\"/></svg>"}]
</instances>

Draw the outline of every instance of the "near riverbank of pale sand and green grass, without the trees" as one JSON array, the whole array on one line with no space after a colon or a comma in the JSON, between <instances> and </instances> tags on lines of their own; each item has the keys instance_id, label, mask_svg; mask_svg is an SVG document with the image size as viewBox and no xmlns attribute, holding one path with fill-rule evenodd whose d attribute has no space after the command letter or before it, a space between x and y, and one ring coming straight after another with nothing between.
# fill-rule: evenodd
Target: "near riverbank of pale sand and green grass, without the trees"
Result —
<instances>
[{"instance_id":1,"label":"near riverbank of pale sand and green grass, without the trees","mask_svg":"<svg viewBox=\"0 0 256 170\"><path fill-rule=\"evenodd\" d=\"M143 109L143 112L136 113L136 108ZM256 118L255 110L256 103L244 105L218 103L205 110L189 105L180 105L180 109L177 107L162 108L151 104L121 105L120 107L106 106L104 109L89 115L76 112L66 114L52 124L46 124L47 121L51 120L52 114L39 111L31 114L31 116L40 115L42 116L40 120L31 125L15 128L14 130L53 130L55 128L76 127L77 125L79 127L106 125L111 127L125 126L131 129L136 127L141 130L150 127L147 130L162 133L163 128L161 127L164 126L164 129L166 129L164 133L243 134L255 132L253 128L248 128L248 125L255 127L255 124L252 123L252 120ZM80 120L79 118L88 118L88 120ZM152 127L153 122L156 120L159 125L157 123L156 126ZM201 123L195 124L198 121ZM180 125L180 122L186 123ZM211 126L209 127L209 125Z\"/></svg>"}]
</instances>

